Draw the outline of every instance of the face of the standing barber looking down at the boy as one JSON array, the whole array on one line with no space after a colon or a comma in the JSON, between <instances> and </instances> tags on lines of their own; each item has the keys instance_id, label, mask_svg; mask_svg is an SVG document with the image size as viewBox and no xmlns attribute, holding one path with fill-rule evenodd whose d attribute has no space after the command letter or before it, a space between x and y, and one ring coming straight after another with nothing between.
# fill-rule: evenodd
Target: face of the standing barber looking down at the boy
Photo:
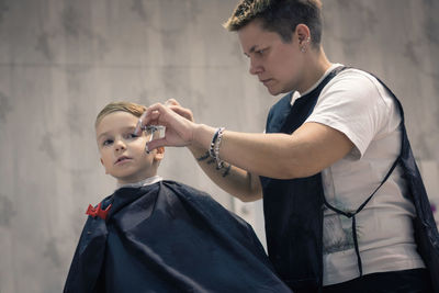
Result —
<instances>
[{"instance_id":1,"label":"face of the standing barber looking down at the boy","mask_svg":"<svg viewBox=\"0 0 439 293\"><path fill-rule=\"evenodd\" d=\"M250 74L258 76L271 94L300 90L303 54L294 34L291 43L284 43L278 33L263 30L256 20L240 29L238 37L250 59Z\"/></svg>"}]
</instances>

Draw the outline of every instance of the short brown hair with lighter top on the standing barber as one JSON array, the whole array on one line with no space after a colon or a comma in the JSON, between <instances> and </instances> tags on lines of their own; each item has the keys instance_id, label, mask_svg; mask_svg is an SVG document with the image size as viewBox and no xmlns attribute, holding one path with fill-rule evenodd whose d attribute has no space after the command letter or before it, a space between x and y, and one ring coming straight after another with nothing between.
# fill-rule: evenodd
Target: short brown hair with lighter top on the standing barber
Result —
<instances>
[{"instance_id":1,"label":"short brown hair with lighter top on the standing barber","mask_svg":"<svg viewBox=\"0 0 439 293\"><path fill-rule=\"evenodd\" d=\"M223 26L235 32L254 20L260 20L264 30L278 33L284 43L291 42L295 27L303 23L309 27L312 44L320 44L320 0L240 0Z\"/></svg>"}]
</instances>

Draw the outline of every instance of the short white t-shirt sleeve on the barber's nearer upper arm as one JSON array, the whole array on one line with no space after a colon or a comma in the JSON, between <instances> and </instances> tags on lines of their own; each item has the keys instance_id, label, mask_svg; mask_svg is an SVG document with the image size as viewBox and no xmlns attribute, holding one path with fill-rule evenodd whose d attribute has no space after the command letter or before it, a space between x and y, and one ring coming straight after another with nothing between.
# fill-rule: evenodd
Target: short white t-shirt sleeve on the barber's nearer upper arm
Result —
<instances>
[{"instance_id":1,"label":"short white t-shirt sleeve on the barber's nearer upper arm","mask_svg":"<svg viewBox=\"0 0 439 293\"><path fill-rule=\"evenodd\" d=\"M348 69L322 91L313 113L305 121L327 125L344 133L354 145L349 154L360 159L385 124L389 105L383 89L365 72Z\"/></svg>"}]
</instances>

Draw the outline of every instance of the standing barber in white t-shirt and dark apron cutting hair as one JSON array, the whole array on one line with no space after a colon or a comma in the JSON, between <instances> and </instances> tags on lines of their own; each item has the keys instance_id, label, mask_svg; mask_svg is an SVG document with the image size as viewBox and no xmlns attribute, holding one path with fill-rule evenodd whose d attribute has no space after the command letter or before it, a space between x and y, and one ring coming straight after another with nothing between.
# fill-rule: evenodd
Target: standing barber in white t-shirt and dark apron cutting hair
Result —
<instances>
[{"instance_id":1,"label":"standing barber in white t-shirt and dark apron cutting hair","mask_svg":"<svg viewBox=\"0 0 439 293\"><path fill-rule=\"evenodd\" d=\"M170 100L140 119L167 127L148 148L185 146L229 194L263 196L269 257L295 292L439 292L438 230L401 103L328 60L320 14L319 0L241 0L225 24L250 74L286 94L266 133L195 123Z\"/></svg>"}]
</instances>

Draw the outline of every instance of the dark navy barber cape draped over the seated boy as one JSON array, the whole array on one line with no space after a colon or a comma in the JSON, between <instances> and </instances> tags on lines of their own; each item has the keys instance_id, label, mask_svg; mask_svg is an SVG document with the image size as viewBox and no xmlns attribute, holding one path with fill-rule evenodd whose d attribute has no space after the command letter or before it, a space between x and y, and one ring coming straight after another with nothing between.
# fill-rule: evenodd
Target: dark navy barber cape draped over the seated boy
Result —
<instances>
[{"instance_id":1,"label":"dark navy barber cape draped over the seated boy","mask_svg":"<svg viewBox=\"0 0 439 293\"><path fill-rule=\"evenodd\" d=\"M89 216L64 292L291 292L255 232L173 181L121 188Z\"/></svg>"}]
</instances>

